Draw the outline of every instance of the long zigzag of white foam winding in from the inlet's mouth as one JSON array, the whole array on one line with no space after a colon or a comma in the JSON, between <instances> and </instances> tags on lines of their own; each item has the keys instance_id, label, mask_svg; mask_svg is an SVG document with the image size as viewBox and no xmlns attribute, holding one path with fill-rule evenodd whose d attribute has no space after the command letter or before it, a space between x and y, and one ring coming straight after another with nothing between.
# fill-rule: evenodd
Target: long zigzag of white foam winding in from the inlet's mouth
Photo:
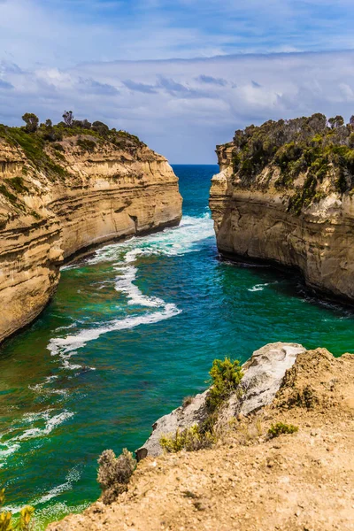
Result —
<instances>
[{"instance_id":1,"label":"long zigzag of white foam winding in from the inlet's mouth","mask_svg":"<svg viewBox=\"0 0 354 531\"><path fill-rule=\"evenodd\" d=\"M114 270L119 273L115 279L115 289L127 296L128 305L150 308L151 312L130 315L123 319L114 319L104 325L94 324L76 334L52 338L48 350L52 356L59 355L63 359L63 368L78 369L80 366L70 364L65 358L69 352L81 349L88 342L98 339L101 335L133 328L141 325L155 324L163 319L170 319L181 313L173 303L166 303L157 296L142 293L136 286L138 258L146 256L178 256L186 252L200 250L204 240L213 235L213 222L209 212L202 218L185 216L178 227L166 228L160 233L147 236L134 236L125 242L112 243L96 250L93 257L86 258L85 264L94 266L102 262L113 262Z\"/></svg>"}]
</instances>

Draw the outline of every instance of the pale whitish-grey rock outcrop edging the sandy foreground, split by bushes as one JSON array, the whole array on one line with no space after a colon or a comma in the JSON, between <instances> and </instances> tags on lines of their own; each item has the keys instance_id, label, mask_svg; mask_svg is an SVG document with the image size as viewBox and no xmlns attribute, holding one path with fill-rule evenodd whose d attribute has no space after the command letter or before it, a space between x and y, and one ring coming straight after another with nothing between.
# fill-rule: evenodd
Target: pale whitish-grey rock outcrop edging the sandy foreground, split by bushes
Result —
<instances>
[{"instance_id":1,"label":"pale whitish-grey rock outcrop edging the sandy foreground, split by bushes","mask_svg":"<svg viewBox=\"0 0 354 531\"><path fill-rule=\"evenodd\" d=\"M255 350L242 366L242 395L234 393L230 396L222 411L222 421L226 423L239 414L245 416L270 404L281 387L285 372L294 365L297 355L304 351L302 345L283 342L270 343ZM208 390L158 419L152 426L149 439L135 452L138 460L162 453L159 444L162 435L173 435L177 430L201 424L208 415L207 396Z\"/></svg>"}]
</instances>

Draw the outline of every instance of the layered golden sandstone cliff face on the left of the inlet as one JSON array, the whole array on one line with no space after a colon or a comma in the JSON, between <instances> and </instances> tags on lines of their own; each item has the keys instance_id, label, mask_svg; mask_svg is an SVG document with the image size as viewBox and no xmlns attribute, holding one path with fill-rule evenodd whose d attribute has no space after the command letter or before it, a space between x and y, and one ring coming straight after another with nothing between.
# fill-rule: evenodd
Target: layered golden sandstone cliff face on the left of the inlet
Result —
<instances>
[{"instance_id":1,"label":"layered golden sandstone cliff face on the left of the inlet","mask_svg":"<svg viewBox=\"0 0 354 531\"><path fill-rule=\"evenodd\" d=\"M0 341L42 311L65 258L181 219L171 166L135 137L34 139L0 135Z\"/></svg>"}]
</instances>

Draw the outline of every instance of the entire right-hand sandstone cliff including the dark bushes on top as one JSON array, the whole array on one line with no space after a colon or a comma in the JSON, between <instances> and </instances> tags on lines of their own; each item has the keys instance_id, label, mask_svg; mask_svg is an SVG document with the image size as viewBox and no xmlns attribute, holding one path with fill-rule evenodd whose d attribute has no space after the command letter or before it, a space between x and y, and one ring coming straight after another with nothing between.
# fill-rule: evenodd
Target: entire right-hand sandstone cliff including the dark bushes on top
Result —
<instances>
[{"instance_id":1,"label":"entire right-hand sandstone cliff including the dark bushes on top","mask_svg":"<svg viewBox=\"0 0 354 531\"><path fill-rule=\"evenodd\" d=\"M236 131L218 146L210 206L219 252L291 266L354 301L353 126L323 115Z\"/></svg>"}]
</instances>

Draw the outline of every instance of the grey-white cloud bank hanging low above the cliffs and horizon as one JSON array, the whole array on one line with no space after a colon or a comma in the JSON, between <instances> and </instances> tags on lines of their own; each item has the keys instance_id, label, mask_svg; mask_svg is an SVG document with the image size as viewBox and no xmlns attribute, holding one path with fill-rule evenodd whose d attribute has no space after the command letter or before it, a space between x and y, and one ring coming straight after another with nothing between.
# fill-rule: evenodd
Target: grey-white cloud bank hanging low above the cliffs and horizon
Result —
<instances>
[{"instance_id":1,"label":"grey-white cloud bank hanging low above the cliffs and horizon","mask_svg":"<svg viewBox=\"0 0 354 531\"><path fill-rule=\"evenodd\" d=\"M354 51L95 62L24 70L0 65L0 121L24 112L100 119L173 163L215 162L236 128L312 112L354 113ZM5 95L5 96L4 96Z\"/></svg>"}]
</instances>

